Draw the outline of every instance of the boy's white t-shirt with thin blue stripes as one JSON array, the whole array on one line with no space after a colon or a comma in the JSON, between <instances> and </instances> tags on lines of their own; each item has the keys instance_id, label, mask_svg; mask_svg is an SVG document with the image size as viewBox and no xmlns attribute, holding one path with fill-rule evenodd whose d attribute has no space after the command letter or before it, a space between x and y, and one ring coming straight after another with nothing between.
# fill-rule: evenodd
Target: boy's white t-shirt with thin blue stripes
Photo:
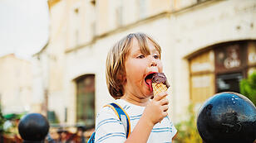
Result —
<instances>
[{"instance_id":1,"label":"boy's white t-shirt with thin blue stripes","mask_svg":"<svg viewBox=\"0 0 256 143\"><path fill-rule=\"evenodd\" d=\"M132 132L140 120L145 107L131 104L123 99L117 99L115 102L121 105L130 117L130 132ZM170 122L170 118L165 117L160 123L155 124L147 142L170 143L176 132L177 130L172 122ZM126 141L125 127L111 107L103 107L97 114L95 141L96 143L121 143Z\"/></svg>"}]
</instances>

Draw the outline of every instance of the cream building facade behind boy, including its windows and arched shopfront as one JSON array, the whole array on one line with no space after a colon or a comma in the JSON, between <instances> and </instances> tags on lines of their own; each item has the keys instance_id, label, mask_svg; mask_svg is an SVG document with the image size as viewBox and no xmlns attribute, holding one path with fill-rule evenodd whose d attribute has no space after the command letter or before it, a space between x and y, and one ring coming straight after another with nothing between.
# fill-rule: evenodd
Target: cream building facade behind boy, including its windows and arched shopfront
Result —
<instances>
[{"instance_id":1,"label":"cream building facade behind boy, including its windows and arched shopfront","mask_svg":"<svg viewBox=\"0 0 256 143\"><path fill-rule=\"evenodd\" d=\"M170 118L186 119L256 67L256 2L214 0L51 0L50 40L37 57L47 71L47 109L59 121L93 126L111 98L106 54L131 32L145 32L162 47L170 81ZM44 56L45 55L45 56ZM41 58L47 59L46 63Z\"/></svg>"}]
</instances>

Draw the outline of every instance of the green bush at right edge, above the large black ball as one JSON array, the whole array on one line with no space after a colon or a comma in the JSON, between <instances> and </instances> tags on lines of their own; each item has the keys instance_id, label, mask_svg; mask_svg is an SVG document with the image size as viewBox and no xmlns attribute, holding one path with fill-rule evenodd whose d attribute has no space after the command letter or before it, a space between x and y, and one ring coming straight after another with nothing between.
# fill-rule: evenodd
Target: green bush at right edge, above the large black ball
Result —
<instances>
[{"instance_id":1,"label":"green bush at right edge, above the large black ball","mask_svg":"<svg viewBox=\"0 0 256 143\"><path fill-rule=\"evenodd\" d=\"M250 74L248 79L240 81L240 93L249 98L256 106L256 72Z\"/></svg>"}]
</instances>

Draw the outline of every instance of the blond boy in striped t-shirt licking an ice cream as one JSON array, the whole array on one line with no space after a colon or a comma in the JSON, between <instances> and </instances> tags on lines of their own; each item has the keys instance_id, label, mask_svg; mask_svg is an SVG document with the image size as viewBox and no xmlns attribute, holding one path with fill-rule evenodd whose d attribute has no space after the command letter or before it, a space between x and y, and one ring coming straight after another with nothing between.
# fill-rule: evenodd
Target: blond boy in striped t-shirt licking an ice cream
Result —
<instances>
[{"instance_id":1,"label":"blond boy in striped t-shirt licking an ice cream","mask_svg":"<svg viewBox=\"0 0 256 143\"><path fill-rule=\"evenodd\" d=\"M130 136L111 107L103 107L96 117L96 142L171 142L175 126L167 117L168 93L152 98L146 82L161 73L160 45L144 33L134 33L118 41L106 60L106 83L111 96L130 117ZM150 99L152 98L152 99Z\"/></svg>"}]
</instances>

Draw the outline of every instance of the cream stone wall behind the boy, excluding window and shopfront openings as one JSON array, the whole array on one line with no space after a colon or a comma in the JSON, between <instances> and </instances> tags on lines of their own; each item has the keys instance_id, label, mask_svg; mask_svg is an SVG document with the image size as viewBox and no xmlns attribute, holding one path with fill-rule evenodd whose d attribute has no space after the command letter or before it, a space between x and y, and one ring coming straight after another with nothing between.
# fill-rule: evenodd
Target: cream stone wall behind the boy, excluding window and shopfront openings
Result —
<instances>
[{"instance_id":1,"label":"cream stone wall behind the boy, excluding window and shopfront openings","mask_svg":"<svg viewBox=\"0 0 256 143\"><path fill-rule=\"evenodd\" d=\"M145 13L139 0L61 1L51 9L49 108L63 121L68 108L68 122L76 121L76 84L83 74L96 75L96 112L113 98L105 79L106 53L121 37L142 31L153 36L163 49L164 71L170 80L170 117L174 122L185 119L190 104L190 68L188 56L209 45L224 41L256 39L256 3L254 1L145 1ZM85 3L84 3L85 2ZM123 7L121 26L116 10ZM157 7L156 7L157 6ZM81 8L73 17L74 8ZM88 12L86 9L93 9ZM95 10L95 11L94 11ZM164 14L160 14L167 12ZM72 13L72 14L71 14ZM90 15L96 16L95 18ZM77 20L77 23L73 20ZM96 22L96 37L91 24ZM78 24L78 25L77 25ZM74 26L79 27L78 42ZM57 101L57 102L56 102Z\"/></svg>"}]
</instances>

